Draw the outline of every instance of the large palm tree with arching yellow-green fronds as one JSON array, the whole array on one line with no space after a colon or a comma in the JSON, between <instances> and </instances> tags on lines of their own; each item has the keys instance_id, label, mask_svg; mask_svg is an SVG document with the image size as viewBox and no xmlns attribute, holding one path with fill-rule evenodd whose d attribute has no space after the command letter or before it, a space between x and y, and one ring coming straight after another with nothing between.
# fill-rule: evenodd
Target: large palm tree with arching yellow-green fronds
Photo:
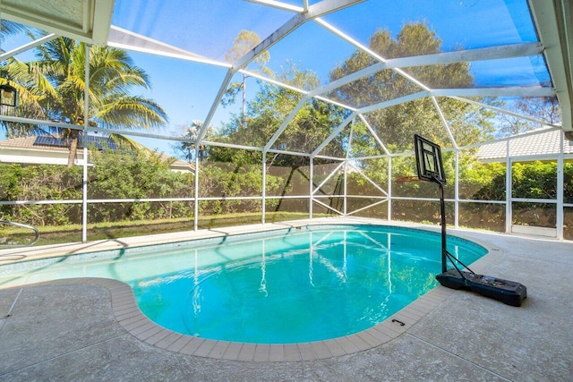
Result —
<instances>
[{"instance_id":1,"label":"large palm tree with arching yellow-green fronds","mask_svg":"<svg viewBox=\"0 0 573 382\"><path fill-rule=\"evenodd\" d=\"M38 47L36 61L12 60L9 72L18 82L23 109L41 110L50 121L83 124L85 83L85 45L71 38L56 38ZM161 106L148 98L132 96L133 87L150 89L146 72L133 64L123 50L90 47L89 109L91 126L107 129L152 129L167 123ZM68 142L73 161L80 131L56 129ZM114 135L115 140L126 141ZM127 140L128 141L128 140Z\"/></svg>"}]
</instances>

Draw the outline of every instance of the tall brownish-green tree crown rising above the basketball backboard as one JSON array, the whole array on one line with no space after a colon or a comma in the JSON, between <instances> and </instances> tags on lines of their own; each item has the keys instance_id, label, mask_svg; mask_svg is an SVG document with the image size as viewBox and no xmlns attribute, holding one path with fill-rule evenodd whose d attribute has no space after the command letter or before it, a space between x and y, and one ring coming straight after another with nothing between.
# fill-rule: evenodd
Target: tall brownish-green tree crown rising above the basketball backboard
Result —
<instances>
[{"instance_id":1,"label":"tall brownish-green tree crown rising above the basketball backboard","mask_svg":"<svg viewBox=\"0 0 573 382\"><path fill-rule=\"evenodd\" d=\"M426 24L412 22L407 23L396 38L392 38L389 30L377 30L370 38L369 47L385 58L430 55L440 52L441 40ZM338 80L376 63L371 55L356 51L330 72L330 80ZM466 63L406 68L405 72L431 88L468 88L474 81ZM347 105L361 107L420 90L422 88L409 81L406 76L396 71L383 70L340 87L334 97ZM450 128L454 131L458 144L474 140L476 134L483 133L483 126L489 126L483 115L476 113L476 106L451 99L440 99L440 107L447 119L454 120L450 121ZM367 119L381 140L397 151L412 149L412 135L415 132L442 145L449 145L448 134L435 110L430 98L422 98L374 111L367 115Z\"/></svg>"}]
</instances>

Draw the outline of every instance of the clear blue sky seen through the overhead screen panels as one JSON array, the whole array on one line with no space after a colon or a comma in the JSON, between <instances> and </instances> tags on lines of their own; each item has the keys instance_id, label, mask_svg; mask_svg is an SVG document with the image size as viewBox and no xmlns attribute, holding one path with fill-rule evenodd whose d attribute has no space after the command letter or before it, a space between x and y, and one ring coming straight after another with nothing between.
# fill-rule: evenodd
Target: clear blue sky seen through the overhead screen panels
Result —
<instances>
[{"instance_id":1,"label":"clear blue sky seen through the overhead screen panels","mask_svg":"<svg viewBox=\"0 0 573 382\"><path fill-rule=\"evenodd\" d=\"M242 0L116 0L112 22L222 61L240 30L253 30L265 38L293 15ZM366 46L375 30L387 29L396 36L411 21L426 22L442 39L445 51L536 41L526 0L370 0L330 13L323 20ZM311 21L271 47L268 65L280 72L281 66L292 61L299 69L312 70L326 82L329 71L354 51L355 47ZM135 52L130 55L135 64L150 74L153 88L141 91L141 95L156 100L167 110L166 131L205 119L224 79L224 68ZM539 70L542 66L543 60L519 58L474 63L472 70L480 86L531 85L547 76ZM512 74L515 72L517 76ZM256 89L249 89L248 96L252 97ZM239 112L239 105L227 109L219 106L212 123L218 126L227 120L229 112ZM169 142L142 142L170 153Z\"/></svg>"}]
</instances>

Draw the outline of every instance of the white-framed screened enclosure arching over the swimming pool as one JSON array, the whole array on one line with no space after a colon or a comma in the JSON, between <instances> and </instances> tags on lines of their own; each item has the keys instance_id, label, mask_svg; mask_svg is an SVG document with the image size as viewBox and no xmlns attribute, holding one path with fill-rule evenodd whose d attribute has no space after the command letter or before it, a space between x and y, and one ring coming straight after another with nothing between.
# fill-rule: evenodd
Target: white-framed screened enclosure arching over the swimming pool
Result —
<instances>
[{"instance_id":1,"label":"white-framed screened enclosure arching over the swimming pool","mask_svg":"<svg viewBox=\"0 0 573 382\"><path fill-rule=\"evenodd\" d=\"M435 184L406 182L417 133L442 148L449 225L572 240L571 12L2 0L0 217L53 242L316 216L439 224Z\"/></svg>"}]
</instances>

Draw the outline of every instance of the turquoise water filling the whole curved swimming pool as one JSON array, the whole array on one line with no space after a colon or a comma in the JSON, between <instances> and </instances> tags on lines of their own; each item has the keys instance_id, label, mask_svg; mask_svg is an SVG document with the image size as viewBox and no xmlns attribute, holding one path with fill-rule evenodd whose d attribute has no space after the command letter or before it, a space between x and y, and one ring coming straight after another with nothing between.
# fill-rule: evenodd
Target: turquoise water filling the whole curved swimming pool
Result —
<instances>
[{"instance_id":1,"label":"turquoise water filling the whole curved swimming pool","mask_svg":"<svg viewBox=\"0 0 573 382\"><path fill-rule=\"evenodd\" d=\"M453 236L448 248L466 264L487 252ZM162 327L288 344L372 327L437 285L440 271L439 233L320 225L29 261L0 267L0 285L115 278Z\"/></svg>"}]
</instances>

